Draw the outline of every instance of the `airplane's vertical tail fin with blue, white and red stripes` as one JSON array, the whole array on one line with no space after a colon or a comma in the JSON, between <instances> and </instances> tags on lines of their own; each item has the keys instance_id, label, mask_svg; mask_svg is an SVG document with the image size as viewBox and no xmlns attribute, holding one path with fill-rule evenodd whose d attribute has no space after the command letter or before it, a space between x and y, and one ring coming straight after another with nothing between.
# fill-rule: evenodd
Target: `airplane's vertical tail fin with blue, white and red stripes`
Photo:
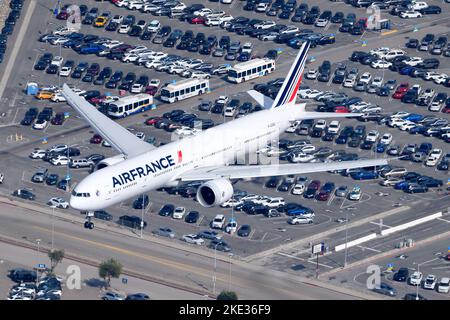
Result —
<instances>
[{"instance_id":1,"label":"airplane's vertical tail fin with blue, white and red stripes","mask_svg":"<svg viewBox=\"0 0 450 320\"><path fill-rule=\"evenodd\" d=\"M303 70L305 68L309 47L310 44L308 41L303 43L301 46L300 51L295 58L294 64L292 65L291 70L289 70L289 73L272 104L272 108L282 107L286 104L292 103L293 101L295 102L298 88L302 82Z\"/></svg>"}]
</instances>

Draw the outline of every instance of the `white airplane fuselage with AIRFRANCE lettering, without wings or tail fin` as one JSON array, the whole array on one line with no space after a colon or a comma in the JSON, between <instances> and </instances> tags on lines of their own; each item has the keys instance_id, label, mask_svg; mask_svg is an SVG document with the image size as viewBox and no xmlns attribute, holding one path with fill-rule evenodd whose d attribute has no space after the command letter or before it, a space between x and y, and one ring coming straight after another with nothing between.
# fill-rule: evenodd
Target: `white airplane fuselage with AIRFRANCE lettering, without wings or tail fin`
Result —
<instances>
[{"instance_id":1,"label":"white airplane fuselage with AIRFRANCE lettering, without wings or tail fin","mask_svg":"<svg viewBox=\"0 0 450 320\"><path fill-rule=\"evenodd\" d=\"M262 110L95 171L75 186L70 206L82 211L104 209L176 185L182 173L235 163L236 158L278 139L291 121L301 118L302 110L304 105Z\"/></svg>"}]
</instances>

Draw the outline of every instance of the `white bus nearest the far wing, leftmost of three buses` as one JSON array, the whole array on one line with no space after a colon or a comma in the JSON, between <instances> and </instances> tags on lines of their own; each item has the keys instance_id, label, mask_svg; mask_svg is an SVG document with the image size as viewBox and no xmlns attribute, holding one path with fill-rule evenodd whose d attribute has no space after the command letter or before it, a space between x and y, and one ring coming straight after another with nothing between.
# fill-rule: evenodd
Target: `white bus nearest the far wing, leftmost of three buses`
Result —
<instances>
[{"instance_id":1,"label":"white bus nearest the far wing, leftmost of three buses","mask_svg":"<svg viewBox=\"0 0 450 320\"><path fill-rule=\"evenodd\" d=\"M124 118L134 113L147 111L153 104L153 97L146 93L127 96L108 105L108 115L112 118Z\"/></svg>"}]
</instances>

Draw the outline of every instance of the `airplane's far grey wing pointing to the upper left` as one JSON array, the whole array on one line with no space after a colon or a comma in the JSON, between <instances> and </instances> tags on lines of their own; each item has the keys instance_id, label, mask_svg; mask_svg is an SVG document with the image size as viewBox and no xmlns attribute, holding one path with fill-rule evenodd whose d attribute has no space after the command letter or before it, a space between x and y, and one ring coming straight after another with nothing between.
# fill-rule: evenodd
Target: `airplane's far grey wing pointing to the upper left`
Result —
<instances>
[{"instance_id":1,"label":"airplane's far grey wing pointing to the upper left","mask_svg":"<svg viewBox=\"0 0 450 320\"><path fill-rule=\"evenodd\" d=\"M78 111L99 135L125 156L133 157L155 149L155 146L139 139L120 124L98 111L83 97L73 92L67 84L64 84L62 94L66 98L67 103Z\"/></svg>"}]
</instances>

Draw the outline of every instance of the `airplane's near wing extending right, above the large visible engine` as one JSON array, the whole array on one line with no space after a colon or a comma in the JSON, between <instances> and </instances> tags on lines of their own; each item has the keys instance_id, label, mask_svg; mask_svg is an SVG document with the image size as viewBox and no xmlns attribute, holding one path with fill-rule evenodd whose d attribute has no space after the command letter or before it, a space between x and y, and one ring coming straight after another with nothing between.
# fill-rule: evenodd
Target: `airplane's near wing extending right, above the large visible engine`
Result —
<instances>
[{"instance_id":1,"label":"airplane's near wing extending right, above the large visible engine","mask_svg":"<svg viewBox=\"0 0 450 320\"><path fill-rule=\"evenodd\" d=\"M181 174L178 177L181 181L206 181L219 178L244 179L271 176L284 176L289 174L304 174L313 172L324 172L333 170L344 170L353 168L364 168L373 166L384 166L387 159L368 159L354 161L336 161L321 163L299 163L299 164L278 164L278 165L251 165L239 166L230 165L223 167L199 168Z\"/></svg>"}]
</instances>

